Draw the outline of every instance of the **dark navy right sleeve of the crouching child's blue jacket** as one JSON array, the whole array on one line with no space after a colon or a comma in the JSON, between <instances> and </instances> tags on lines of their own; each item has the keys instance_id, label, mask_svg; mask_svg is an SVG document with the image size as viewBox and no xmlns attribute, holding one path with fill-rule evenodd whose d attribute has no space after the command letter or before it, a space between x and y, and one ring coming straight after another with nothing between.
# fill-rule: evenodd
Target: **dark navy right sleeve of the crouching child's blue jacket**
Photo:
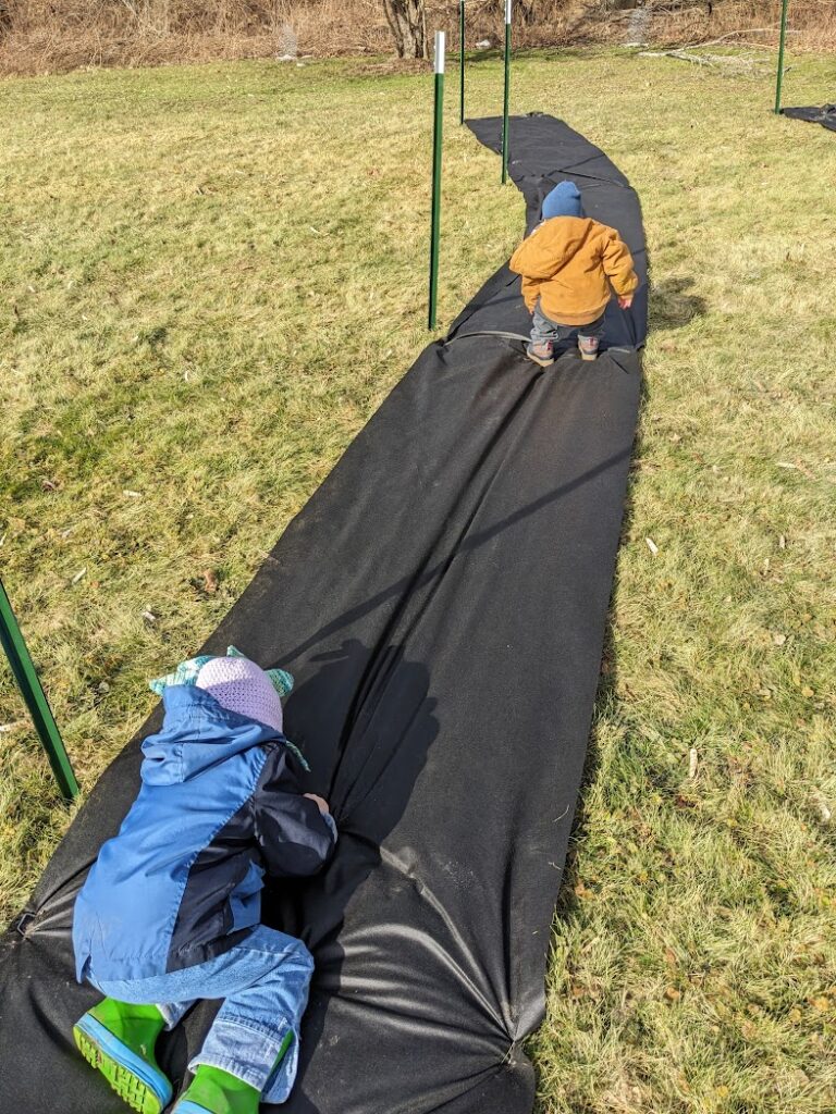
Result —
<instances>
[{"instance_id":1,"label":"dark navy right sleeve of the crouching child's blue jacket","mask_svg":"<svg viewBox=\"0 0 836 1114\"><path fill-rule=\"evenodd\" d=\"M273 751L253 795L255 840L275 878L315 874L337 843L333 818L302 795L288 763L286 751Z\"/></svg>"}]
</instances>

